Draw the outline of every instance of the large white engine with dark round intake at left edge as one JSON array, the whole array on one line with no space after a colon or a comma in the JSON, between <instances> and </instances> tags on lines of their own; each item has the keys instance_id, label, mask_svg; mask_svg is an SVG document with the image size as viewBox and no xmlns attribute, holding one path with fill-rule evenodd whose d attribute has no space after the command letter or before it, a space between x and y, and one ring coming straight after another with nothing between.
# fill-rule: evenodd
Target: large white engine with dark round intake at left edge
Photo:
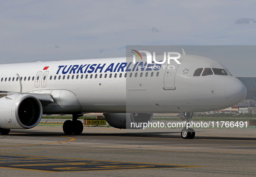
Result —
<instances>
[{"instance_id":1,"label":"large white engine with dark round intake at left edge","mask_svg":"<svg viewBox=\"0 0 256 177\"><path fill-rule=\"evenodd\" d=\"M7 95L0 98L0 127L5 129L30 129L42 118L42 104L26 94Z\"/></svg>"}]
</instances>

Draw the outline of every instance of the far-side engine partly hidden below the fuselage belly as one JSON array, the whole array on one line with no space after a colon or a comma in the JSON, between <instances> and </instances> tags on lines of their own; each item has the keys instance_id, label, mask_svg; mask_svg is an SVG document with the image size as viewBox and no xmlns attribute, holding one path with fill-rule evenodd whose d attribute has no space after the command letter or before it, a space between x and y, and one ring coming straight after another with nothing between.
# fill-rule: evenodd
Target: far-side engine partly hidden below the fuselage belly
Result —
<instances>
[{"instance_id":1,"label":"far-side engine partly hidden below the fuselage belly","mask_svg":"<svg viewBox=\"0 0 256 177\"><path fill-rule=\"evenodd\" d=\"M131 123L150 123L153 119L153 114L147 113L104 113L107 123L117 129L141 129L132 128Z\"/></svg>"}]
</instances>

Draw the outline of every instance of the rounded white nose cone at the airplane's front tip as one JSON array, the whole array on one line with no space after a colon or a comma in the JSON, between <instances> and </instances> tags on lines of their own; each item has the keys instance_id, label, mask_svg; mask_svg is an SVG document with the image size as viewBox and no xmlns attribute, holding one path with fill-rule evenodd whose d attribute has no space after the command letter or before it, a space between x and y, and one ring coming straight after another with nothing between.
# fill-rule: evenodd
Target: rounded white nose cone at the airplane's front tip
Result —
<instances>
[{"instance_id":1,"label":"rounded white nose cone at the airplane's front tip","mask_svg":"<svg viewBox=\"0 0 256 177\"><path fill-rule=\"evenodd\" d=\"M247 94L247 90L243 83L234 79L226 83L225 85L225 96L229 100L230 104L238 104L240 103Z\"/></svg>"}]
</instances>

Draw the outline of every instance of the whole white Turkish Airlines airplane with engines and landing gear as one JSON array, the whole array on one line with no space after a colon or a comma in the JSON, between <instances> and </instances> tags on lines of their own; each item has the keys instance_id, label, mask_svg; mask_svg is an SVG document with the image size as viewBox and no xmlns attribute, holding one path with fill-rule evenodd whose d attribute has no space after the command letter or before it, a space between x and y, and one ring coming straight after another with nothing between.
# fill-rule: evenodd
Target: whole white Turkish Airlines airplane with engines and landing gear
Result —
<instances>
[{"instance_id":1,"label":"whole white Turkish Airlines airplane with engines and landing gear","mask_svg":"<svg viewBox=\"0 0 256 177\"><path fill-rule=\"evenodd\" d=\"M145 56L135 63L118 57L1 64L0 134L33 128L42 114L72 114L63 131L75 135L83 132L78 117L86 113L104 113L118 129L151 122L154 113L178 113L189 122L195 112L231 107L246 97L243 83L225 66L182 51L181 64L150 64ZM194 136L193 129L181 130L183 139Z\"/></svg>"}]
</instances>

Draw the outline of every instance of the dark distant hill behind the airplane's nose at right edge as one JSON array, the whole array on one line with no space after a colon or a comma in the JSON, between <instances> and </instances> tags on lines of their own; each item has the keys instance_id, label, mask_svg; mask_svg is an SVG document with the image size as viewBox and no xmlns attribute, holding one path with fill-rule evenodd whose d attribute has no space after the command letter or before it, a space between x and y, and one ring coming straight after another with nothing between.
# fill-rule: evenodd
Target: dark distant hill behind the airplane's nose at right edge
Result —
<instances>
[{"instance_id":1,"label":"dark distant hill behind the airplane's nose at right edge","mask_svg":"<svg viewBox=\"0 0 256 177\"><path fill-rule=\"evenodd\" d=\"M237 77L247 89L246 100L256 101L256 77Z\"/></svg>"}]
</instances>

